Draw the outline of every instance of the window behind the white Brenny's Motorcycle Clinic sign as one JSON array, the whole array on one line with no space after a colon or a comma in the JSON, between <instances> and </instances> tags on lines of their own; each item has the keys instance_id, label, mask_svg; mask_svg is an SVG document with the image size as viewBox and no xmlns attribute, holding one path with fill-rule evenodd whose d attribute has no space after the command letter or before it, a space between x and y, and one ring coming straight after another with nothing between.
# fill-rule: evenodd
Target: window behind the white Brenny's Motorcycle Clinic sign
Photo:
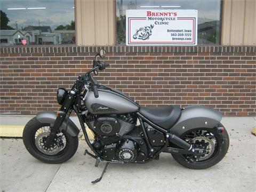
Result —
<instances>
[{"instance_id":1,"label":"window behind the white Brenny's Motorcycle Clinic sign","mask_svg":"<svg viewBox=\"0 0 256 192\"><path fill-rule=\"evenodd\" d=\"M116 42L125 44L125 12L129 9L198 10L198 44L220 44L221 0L116 0Z\"/></svg>"}]
</instances>

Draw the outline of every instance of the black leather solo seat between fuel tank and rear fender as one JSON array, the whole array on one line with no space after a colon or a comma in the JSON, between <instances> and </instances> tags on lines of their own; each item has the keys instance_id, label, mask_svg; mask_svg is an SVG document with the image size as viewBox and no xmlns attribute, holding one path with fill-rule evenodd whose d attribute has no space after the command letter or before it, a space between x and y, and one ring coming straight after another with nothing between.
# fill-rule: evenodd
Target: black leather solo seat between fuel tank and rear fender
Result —
<instances>
[{"instance_id":1,"label":"black leather solo seat between fuel tank and rear fender","mask_svg":"<svg viewBox=\"0 0 256 192\"><path fill-rule=\"evenodd\" d=\"M181 109L177 105L158 108L141 107L139 113L156 125L168 130L178 121Z\"/></svg>"}]
</instances>

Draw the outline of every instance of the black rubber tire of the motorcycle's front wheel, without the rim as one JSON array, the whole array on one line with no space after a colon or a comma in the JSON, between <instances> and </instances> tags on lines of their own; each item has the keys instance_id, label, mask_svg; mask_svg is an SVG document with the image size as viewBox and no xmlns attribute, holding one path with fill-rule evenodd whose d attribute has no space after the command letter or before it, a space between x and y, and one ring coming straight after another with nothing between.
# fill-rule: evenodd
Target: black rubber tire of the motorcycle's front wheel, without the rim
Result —
<instances>
[{"instance_id":1,"label":"black rubber tire of the motorcycle's front wheel, without the rim","mask_svg":"<svg viewBox=\"0 0 256 192\"><path fill-rule=\"evenodd\" d=\"M47 155L42 153L42 150L38 149L38 144L36 145L35 135L37 130L41 129L42 127L50 126L47 123L40 123L36 117L32 118L25 126L23 130L23 143L28 150L28 152L37 158L39 161L44 163L63 163L68 161L73 155L76 153L78 148L78 137L71 137L68 133L63 132L63 135L66 139L65 148L61 149L57 154L54 155Z\"/></svg>"}]
</instances>

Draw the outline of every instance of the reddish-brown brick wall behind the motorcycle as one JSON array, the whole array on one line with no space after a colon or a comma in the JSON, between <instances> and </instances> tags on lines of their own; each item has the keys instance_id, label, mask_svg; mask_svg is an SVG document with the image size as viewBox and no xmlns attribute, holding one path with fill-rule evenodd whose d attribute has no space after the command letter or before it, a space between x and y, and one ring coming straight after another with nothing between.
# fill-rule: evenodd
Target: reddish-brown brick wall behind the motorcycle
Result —
<instances>
[{"instance_id":1,"label":"reddish-brown brick wall behind the motorcycle","mask_svg":"<svg viewBox=\"0 0 256 192\"><path fill-rule=\"evenodd\" d=\"M97 79L141 105L206 105L253 116L255 46L110 46ZM92 67L99 47L1 47L1 114L57 110L58 87Z\"/></svg>"}]
</instances>

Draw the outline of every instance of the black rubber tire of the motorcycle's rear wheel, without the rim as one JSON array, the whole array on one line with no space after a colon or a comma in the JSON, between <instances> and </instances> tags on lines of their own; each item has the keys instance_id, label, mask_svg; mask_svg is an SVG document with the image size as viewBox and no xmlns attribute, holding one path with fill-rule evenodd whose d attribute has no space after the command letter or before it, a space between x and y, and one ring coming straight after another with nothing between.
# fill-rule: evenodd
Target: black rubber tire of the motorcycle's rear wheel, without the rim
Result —
<instances>
[{"instance_id":1,"label":"black rubber tire of the motorcycle's rear wheel, without the rim","mask_svg":"<svg viewBox=\"0 0 256 192\"><path fill-rule=\"evenodd\" d=\"M219 134L213 129L210 129L210 130L211 130L211 132L215 132L215 134ZM227 154L228 147L229 147L229 137L228 137L228 133L225 128L223 130L223 133L221 133L221 135L222 135L222 142L220 141L220 138L217 139L217 142L219 142L217 147L214 149L212 156L210 158L206 159L205 161L189 162L185 158L185 155L180 155L180 154L172 154L172 157L179 164L181 164L185 167L188 167L189 169L209 168L209 167L219 163L221 161L221 159L224 158L225 155ZM183 138L184 136L185 135L183 134L183 135L181 135L180 138Z\"/></svg>"}]
</instances>

